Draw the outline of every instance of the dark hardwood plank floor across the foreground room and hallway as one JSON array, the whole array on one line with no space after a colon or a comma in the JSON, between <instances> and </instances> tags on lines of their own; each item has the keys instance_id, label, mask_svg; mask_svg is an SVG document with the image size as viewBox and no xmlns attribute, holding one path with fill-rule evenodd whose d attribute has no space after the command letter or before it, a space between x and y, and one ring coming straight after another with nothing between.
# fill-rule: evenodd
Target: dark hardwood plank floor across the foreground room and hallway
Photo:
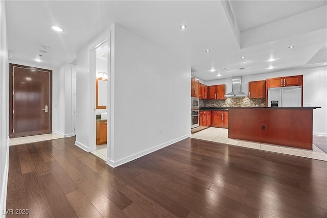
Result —
<instances>
[{"instance_id":1,"label":"dark hardwood plank floor across the foreground room and hallway","mask_svg":"<svg viewBox=\"0 0 327 218\"><path fill-rule=\"evenodd\" d=\"M111 168L74 141L10 147L7 217L327 217L325 161L188 138Z\"/></svg>"}]
</instances>

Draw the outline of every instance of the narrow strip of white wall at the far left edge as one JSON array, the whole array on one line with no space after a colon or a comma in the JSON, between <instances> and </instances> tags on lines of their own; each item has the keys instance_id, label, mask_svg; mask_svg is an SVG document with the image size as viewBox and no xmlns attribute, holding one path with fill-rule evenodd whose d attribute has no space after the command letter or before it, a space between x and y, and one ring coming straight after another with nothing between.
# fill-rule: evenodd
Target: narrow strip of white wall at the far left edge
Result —
<instances>
[{"instance_id":1,"label":"narrow strip of white wall at the far left edge","mask_svg":"<svg viewBox=\"0 0 327 218\"><path fill-rule=\"evenodd\" d=\"M0 211L5 217L9 160L9 64L5 2L0 1Z\"/></svg>"}]
</instances>

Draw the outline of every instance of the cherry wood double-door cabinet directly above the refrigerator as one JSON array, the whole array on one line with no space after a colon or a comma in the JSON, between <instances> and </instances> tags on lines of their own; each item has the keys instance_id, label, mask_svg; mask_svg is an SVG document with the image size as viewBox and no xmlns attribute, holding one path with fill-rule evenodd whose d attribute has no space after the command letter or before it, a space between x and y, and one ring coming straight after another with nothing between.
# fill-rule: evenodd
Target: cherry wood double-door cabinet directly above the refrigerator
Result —
<instances>
[{"instance_id":1,"label":"cherry wood double-door cabinet directly above the refrigerator","mask_svg":"<svg viewBox=\"0 0 327 218\"><path fill-rule=\"evenodd\" d=\"M301 85L303 85L303 75L266 79L267 88Z\"/></svg>"}]
</instances>

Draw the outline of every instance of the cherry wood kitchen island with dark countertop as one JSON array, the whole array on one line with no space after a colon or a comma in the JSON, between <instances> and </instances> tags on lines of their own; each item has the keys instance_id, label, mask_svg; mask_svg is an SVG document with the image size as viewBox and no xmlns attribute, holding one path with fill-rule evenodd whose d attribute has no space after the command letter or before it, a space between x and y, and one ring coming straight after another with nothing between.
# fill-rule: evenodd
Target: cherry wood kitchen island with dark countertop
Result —
<instances>
[{"instance_id":1,"label":"cherry wood kitchen island with dark countertop","mask_svg":"<svg viewBox=\"0 0 327 218\"><path fill-rule=\"evenodd\" d=\"M228 138L312 150L316 108L229 107Z\"/></svg>"}]
</instances>

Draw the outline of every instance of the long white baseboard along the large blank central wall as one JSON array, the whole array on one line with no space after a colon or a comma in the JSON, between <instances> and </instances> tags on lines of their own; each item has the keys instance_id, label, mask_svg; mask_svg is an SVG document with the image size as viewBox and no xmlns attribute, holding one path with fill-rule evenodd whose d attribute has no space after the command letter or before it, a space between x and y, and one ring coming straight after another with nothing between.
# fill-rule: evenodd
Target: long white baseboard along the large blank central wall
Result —
<instances>
[{"instance_id":1,"label":"long white baseboard along the large blank central wall","mask_svg":"<svg viewBox=\"0 0 327 218\"><path fill-rule=\"evenodd\" d=\"M139 153L134 154L134 155L130 155L130 156L126 157L126 158L122 158L122 159L117 160L117 161L112 161L112 160L108 159L107 162L109 161L109 166L111 166L111 167L117 167L117 166L120 166L120 165L122 165L124 163L130 162L130 161L135 160L137 158L140 158L140 157L142 157L144 155L147 155L147 154L150 154L152 152L155 152L155 151L157 151L159 149L162 149L162 148L165 148L167 146L170 146L171 144L176 143L178 141L181 141L181 140L183 140L185 138L188 138L191 135L192 135L191 133L190 134L187 134L187 135L184 135L182 137L179 137L179 138L173 139L171 141L168 141L168 142L159 144L158 146L155 146L153 148L147 149L145 151L139 152Z\"/></svg>"}]
</instances>

